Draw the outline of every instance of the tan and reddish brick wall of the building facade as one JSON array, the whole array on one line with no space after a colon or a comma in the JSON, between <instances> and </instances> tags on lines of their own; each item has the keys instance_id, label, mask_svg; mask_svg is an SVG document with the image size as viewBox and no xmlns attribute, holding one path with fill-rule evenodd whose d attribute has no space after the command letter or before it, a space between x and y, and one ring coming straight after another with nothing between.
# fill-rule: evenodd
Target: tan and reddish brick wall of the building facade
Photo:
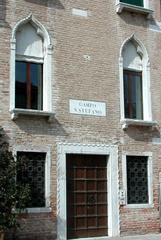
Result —
<instances>
[{"instance_id":1,"label":"tan and reddish brick wall of the building facade","mask_svg":"<svg viewBox=\"0 0 161 240\"><path fill-rule=\"evenodd\" d=\"M151 1L154 17L160 19L159 1ZM3 1L4 4L4 1ZM5 24L0 27L0 124L8 135L11 148L48 146L51 149L50 214L29 214L22 218L22 239L43 239L56 235L56 163L57 143L117 144L119 147L119 183L122 186L122 152L153 153L154 204L150 209L120 207L122 235L159 232L160 146L152 139L160 136L161 124L161 34L149 30L149 20L137 13L118 15L115 1L109 0L6 0L0 2ZM1 8L2 6L2 8ZM72 15L72 9L88 10L88 17ZM55 119L48 123L43 117L19 117L11 120L10 101L10 39L15 24L30 13L48 30L54 45L52 58L52 103ZM154 19L155 20L155 19ZM3 22L3 21L2 21ZM150 58L153 119L157 128L130 127L120 124L119 51L123 41L134 34L144 43ZM86 55L89 56L86 59ZM69 113L69 99L102 101L107 104L106 117ZM48 235L47 235L48 234Z\"/></svg>"}]
</instances>

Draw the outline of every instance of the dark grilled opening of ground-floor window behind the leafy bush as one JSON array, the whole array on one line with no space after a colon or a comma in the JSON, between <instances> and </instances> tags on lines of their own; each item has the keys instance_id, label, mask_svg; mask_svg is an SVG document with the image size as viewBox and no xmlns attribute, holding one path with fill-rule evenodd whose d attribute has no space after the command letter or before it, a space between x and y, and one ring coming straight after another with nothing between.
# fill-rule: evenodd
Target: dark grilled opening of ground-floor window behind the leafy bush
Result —
<instances>
[{"instance_id":1,"label":"dark grilled opening of ground-floor window behind the leafy bush","mask_svg":"<svg viewBox=\"0 0 161 240\"><path fill-rule=\"evenodd\" d=\"M30 186L29 208L45 207L45 157L45 153L17 152L17 181Z\"/></svg>"}]
</instances>

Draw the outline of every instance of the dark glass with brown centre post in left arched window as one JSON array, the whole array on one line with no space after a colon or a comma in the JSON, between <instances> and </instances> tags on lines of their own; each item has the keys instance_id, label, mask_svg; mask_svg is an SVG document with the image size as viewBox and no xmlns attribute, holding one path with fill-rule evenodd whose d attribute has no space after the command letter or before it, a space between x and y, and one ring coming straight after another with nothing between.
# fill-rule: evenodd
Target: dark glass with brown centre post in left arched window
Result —
<instances>
[{"instance_id":1,"label":"dark glass with brown centre post in left arched window","mask_svg":"<svg viewBox=\"0 0 161 240\"><path fill-rule=\"evenodd\" d=\"M16 61L15 107L42 110L43 65Z\"/></svg>"}]
</instances>

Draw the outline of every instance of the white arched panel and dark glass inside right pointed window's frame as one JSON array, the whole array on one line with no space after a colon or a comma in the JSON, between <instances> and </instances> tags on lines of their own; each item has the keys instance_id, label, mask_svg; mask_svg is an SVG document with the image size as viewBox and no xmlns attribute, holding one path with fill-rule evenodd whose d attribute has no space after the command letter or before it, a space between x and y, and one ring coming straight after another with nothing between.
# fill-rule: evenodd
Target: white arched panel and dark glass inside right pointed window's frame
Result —
<instances>
[{"instance_id":1,"label":"white arched panel and dark glass inside right pointed window's frame","mask_svg":"<svg viewBox=\"0 0 161 240\"><path fill-rule=\"evenodd\" d=\"M129 41L123 50L123 85L125 118L143 119L143 56Z\"/></svg>"}]
</instances>

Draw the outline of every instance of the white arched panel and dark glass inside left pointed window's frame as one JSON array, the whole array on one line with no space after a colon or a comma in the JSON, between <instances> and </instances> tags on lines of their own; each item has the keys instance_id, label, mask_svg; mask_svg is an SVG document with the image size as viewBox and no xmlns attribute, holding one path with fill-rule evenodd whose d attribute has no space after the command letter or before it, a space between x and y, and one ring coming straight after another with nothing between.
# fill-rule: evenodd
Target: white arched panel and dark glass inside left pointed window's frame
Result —
<instances>
[{"instance_id":1,"label":"white arched panel and dark glass inside left pointed window's frame","mask_svg":"<svg viewBox=\"0 0 161 240\"><path fill-rule=\"evenodd\" d=\"M16 33L16 108L43 110L43 65L43 39L27 23Z\"/></svg>"}]
</instances>

